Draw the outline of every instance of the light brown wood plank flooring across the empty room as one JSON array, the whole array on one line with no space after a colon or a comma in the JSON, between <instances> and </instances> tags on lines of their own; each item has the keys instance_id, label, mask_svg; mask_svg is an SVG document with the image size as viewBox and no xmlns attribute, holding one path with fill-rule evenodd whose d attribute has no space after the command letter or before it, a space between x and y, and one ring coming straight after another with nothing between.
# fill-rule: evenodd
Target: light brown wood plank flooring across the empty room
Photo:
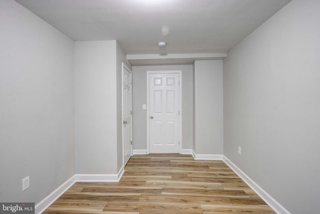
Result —
<instances>
[{"instance_id":1,"label":"light brown wood plank flooring across the empty room","mask_svg":"<svg viewBox=\"0 0 320 214\"><path fill-rule=\"evenodd\" d=\"M275 213L223 161L130 158L119 182L76 182L43 213Z\"/></svg>"}]
</instances>

